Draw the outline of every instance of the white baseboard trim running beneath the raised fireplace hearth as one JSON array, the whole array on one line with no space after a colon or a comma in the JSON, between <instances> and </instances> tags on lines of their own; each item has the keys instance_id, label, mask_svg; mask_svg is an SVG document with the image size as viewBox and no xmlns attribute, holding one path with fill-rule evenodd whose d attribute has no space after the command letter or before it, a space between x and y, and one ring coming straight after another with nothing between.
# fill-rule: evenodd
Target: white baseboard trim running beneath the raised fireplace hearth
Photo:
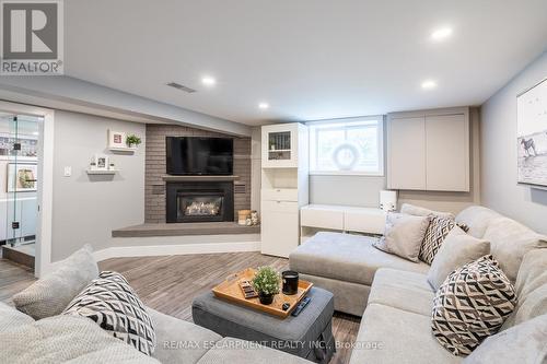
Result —
<instances>
[{"instance_id":1,"label":"white baseboard trim running beneath the raised fireplace hearth","mask_svg":"<svg viewBox=\"0 0 547 364\"><path fill-rule=\"evenodd\" d=\"M94 251L93 257L96 261L102 261L110 258L159 257L240 251L260 251L260 242L116 246Z\"/></svg>"}]
</instances>

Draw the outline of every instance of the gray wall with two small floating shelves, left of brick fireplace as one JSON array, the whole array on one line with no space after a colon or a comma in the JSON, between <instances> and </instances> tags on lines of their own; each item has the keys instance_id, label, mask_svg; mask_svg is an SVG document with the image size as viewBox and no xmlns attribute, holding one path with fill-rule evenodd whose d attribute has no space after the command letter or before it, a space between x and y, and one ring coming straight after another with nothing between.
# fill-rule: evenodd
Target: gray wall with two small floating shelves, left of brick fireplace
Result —
<instances>
[{"instance_id":1,"label":"gray wall with two small floating shelves, left of brick fireplace","mask_svg":"<svg viewBox=\"0 0 547 364\"><path fill-rule=\"evenodd\" d=\"M135 154L112 154L107 130L142 138ZM144 221L143 124L119 121L85 114L56 111L54 156L53 261L90 243L95 250L109 246L114 228ZM120 172L112 176L88 176L91 157L107 154ZM72 176L63 177L65 166Z\"/></svg>"}]
</instances>

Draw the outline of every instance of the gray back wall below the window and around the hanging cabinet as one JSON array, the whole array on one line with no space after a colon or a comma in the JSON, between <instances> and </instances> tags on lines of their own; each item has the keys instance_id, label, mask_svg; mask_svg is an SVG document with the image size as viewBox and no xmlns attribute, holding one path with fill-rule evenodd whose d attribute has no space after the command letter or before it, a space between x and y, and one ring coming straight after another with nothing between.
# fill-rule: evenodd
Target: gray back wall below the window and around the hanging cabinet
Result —
<instances>
[{"instance_id":1,"label":"gray back wall below the window and around the hanging cabinet","mask_svg":"<svg viewBox=\"0 0 547 364\"><path fill-rule=\"evenodd\" d=\"M480 203L479 193L479 114L470 109L472 122L472 180L470 192L399 191L398 204L409 202L434 210L459 212L470 204ZM385 128L384 128L385 130ZM387 145L385 142L384 145ZM385 155L385 151L384 151ZM387 165L384 163L384 165ZM385 171L389 173L389 171ZM380 190L385 189L385 177L368 176L310 176L310 203L377 207Z\"/></svg>"}]
</instances>

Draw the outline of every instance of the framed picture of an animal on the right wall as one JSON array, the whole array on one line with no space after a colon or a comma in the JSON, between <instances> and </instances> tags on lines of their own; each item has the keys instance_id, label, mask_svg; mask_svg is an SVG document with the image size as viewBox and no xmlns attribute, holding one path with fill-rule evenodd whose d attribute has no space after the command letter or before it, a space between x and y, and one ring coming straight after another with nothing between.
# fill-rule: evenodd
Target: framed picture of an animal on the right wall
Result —
<instances>
[{"instance_id":1,"label":"framed picture of an animal on the right wall","mask_svg":"<svg viewBox=\"0 0 547 364\"><path fill-rule=\"evenodd\" d=\"M547 188L547 79L516 96L519 184Z\"/></svg>"}]
</instances>

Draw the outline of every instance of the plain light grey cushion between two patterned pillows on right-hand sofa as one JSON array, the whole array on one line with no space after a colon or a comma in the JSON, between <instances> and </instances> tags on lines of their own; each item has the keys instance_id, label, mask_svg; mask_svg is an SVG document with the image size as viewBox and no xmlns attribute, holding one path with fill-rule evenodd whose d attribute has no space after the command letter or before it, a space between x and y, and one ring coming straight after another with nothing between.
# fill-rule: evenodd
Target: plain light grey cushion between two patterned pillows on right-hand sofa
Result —
<instances>
[{"instance_id":1,"label":"plain light grey cushion between two patterned pillows on right-hand sofa","mask_svg":"<svg viewBox=\"0 0 547 364\"><path fill-rule=\"evenodd\" d=\"M450 273L490 253L490 243L466 234L455 226L446 236L428 272L428 282L439 290Z\"/></svg>"}]
</instances>

